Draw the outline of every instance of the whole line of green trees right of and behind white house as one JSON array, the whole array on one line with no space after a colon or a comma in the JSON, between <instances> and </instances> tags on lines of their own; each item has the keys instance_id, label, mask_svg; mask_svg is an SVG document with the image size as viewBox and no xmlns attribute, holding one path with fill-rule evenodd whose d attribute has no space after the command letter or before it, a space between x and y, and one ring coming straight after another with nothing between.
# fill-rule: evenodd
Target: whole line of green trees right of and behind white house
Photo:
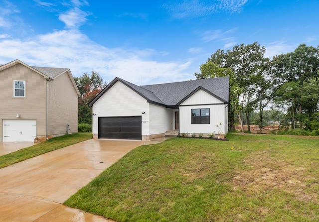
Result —
<instances>
[{"instance_id":1,"label":"whole line of green trees right of and behind white house","mask_svg":"<svg viewBox=\"0 0 319 222\"><path fill-rule=\"evenodd\" d=\"M319 48L301 44L272 59L265 58L265 52L258 42L219 49L195 77L230 77L230 130L235 130L237 119L244 132L245 118L250 131L250 117L256 111L261 133L265 111L273 110L287 128L319 132Z\"/></svg>"}]
</instances>

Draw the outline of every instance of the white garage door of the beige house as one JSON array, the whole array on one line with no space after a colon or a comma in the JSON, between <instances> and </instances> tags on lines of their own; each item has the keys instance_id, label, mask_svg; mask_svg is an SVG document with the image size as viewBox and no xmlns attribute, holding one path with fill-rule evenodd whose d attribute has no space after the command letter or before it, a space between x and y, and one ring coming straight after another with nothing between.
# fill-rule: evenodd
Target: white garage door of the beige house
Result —
<instances>
[{"instance_id":1,"label":"white garage door of the beige house","mask_svg":"<svg viewBox=\"0 0 319 222\"><path fill-rule=\"evenodd\" d=\"M4 119L3 142L34 141L36 120Z\"/></svg>"}]
</instances>

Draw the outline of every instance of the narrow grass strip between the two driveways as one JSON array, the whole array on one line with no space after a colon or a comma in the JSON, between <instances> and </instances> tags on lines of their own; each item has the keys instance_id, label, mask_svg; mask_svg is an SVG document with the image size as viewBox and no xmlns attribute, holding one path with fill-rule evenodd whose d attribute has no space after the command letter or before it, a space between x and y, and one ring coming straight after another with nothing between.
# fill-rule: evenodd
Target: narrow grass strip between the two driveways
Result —
<instances>
[{"instance_id":1,"label":"narrow grass strip between the two driveways","mask_svg":"<svg viewBox=\"0 0 319 222\"><path fill-rule=\"evenodd\" d=\"M92 138L91 133L73 133L0 156L0 168Z\"/></svg>"}]
</instances>

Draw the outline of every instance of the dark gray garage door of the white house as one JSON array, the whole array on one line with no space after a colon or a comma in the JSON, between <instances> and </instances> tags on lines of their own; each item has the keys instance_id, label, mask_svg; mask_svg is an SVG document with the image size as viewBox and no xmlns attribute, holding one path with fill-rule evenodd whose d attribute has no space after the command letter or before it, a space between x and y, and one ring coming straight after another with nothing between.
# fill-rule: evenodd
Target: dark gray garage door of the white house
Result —
<instances>
[{"instance_id":1,"label":"dark gray garage door of the white house","mask_svg":"<svg viewBox=\"0 0 319 222\"><path fill-rule=\"evenodd\" d=\"M142 140L142 116L99 117L99 138Z\"/></svg>"}]
</instances>

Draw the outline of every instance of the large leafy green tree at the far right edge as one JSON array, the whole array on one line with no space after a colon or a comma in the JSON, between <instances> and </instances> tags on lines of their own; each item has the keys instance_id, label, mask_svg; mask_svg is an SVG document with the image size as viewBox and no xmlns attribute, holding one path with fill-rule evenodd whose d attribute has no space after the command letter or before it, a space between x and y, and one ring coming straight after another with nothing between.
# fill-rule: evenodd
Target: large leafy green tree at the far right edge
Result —
<instances>
[{"instance_id":1,"label":"large leafy green tree at the far right edge","mask_svg":"<svg viewBox=\"0 0 319 222\"><path fill-rule=\"evenodd\" d=\"M301 44L273 58L276 103L287 109L292 127L313 129L319 106L319 48Z\"/></svg>"}]
</instances>

